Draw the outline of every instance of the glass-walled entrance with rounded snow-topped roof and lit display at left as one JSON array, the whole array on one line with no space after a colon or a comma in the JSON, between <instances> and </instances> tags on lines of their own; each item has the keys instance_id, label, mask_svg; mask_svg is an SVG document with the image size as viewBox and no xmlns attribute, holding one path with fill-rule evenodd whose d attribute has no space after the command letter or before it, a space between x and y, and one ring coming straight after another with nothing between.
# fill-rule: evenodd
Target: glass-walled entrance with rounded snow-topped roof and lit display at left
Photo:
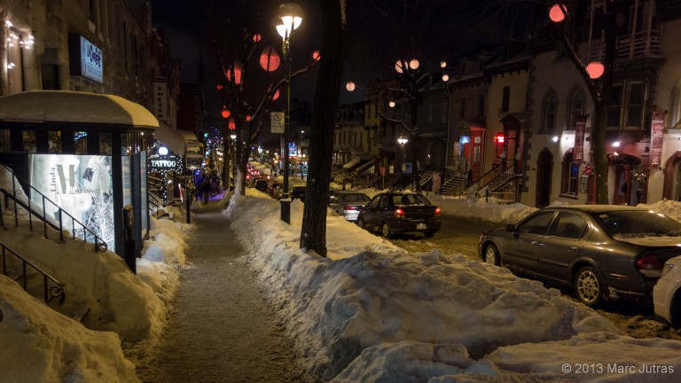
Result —
<instances>
[{"instance_id":1,"label":"glass-walled entrance with rounded snow-topped roof and lit display at left","mask_svg":"<svg viewBox=\"0 0 681 383\"><path fill-rule=\"evenodd\" d=\"M118 96L16 93L0 98L0 163L128 261L148 238L146 162L158 126L144 106Z\"/></svg>"}]
</instances>

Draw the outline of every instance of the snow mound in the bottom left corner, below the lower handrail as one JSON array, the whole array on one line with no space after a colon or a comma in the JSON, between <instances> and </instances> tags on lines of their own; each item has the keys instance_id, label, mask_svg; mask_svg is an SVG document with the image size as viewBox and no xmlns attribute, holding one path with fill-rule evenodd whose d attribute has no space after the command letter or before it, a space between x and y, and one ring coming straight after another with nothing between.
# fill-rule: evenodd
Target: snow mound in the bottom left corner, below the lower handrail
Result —
<instances>
[{"instance_id":1,"label":"snow mound in the bottom left corner, below the lower handrail","mask_svg":"<svg viewBox=\"0 0 681 383\"><path fill-rule=\"evenodd\" d=\"M135 366L123 356L114 332L86 329L4 275L0 312L0 381L137 381Z\"/></svg>"}]
</instances>

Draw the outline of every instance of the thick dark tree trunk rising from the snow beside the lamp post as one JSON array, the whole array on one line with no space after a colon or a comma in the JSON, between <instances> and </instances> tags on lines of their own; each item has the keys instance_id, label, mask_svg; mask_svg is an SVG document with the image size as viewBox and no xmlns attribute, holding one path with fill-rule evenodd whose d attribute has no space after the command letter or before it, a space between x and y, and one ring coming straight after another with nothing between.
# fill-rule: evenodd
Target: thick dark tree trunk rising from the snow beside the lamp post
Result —
<instances>
[{"instance_id":1,"label":"thick dark tree trunk rising from the snow beside the lamp post","mask_svg":"<svg viewBox=\"0 0 681 383\"><path fill-rule=\"evenodd\" d=\"M302 215L301 248L326 256L326 202L331 182L333 127L340 97L345 50L345 26L341 0L320 2L322 23L321 62L312 112L309 174Z\"/></svg>"}]
</instances>

